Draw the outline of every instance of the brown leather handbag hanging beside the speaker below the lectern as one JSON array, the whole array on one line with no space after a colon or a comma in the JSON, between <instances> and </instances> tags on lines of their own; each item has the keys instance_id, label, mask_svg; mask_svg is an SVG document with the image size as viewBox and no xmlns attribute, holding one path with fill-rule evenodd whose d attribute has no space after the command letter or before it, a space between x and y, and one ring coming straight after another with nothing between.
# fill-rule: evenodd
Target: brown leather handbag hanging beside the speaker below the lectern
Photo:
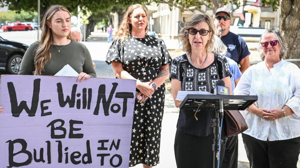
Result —
<instances>
[{"instance_id":1,"label":"brown leather handbag hanging beside the speaker below the lectern","mask_svg":"<svg viewBox=\"0 0 300 168\"><path fill-rule=\"evenodd\" d=\"M226 135L232 137L248 129L248 125L238 110L224 110Z\"/></svg>"}]
</instances>

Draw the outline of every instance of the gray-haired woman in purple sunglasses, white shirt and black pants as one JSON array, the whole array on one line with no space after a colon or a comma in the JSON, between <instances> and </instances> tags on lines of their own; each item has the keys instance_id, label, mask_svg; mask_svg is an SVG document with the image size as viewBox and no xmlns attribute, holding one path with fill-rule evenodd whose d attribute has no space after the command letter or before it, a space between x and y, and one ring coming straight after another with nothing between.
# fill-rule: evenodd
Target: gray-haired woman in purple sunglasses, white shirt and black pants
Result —
<instances>
[{"instance_id":1,"label":"gray-haired woman in purple sunglasses, white shirt and black pants","mask_svg":"<svg viewBox=\"0 0 300 168\"><path fill-rule=\"evenodd\" d=\"M282 58L287 44L277 29L262 34L262 62L248 68L234 95L256 95L242 112L248 129L242 133L251 168L296 168L300 151L300 69Z\"/></svg>"}]
</instances>

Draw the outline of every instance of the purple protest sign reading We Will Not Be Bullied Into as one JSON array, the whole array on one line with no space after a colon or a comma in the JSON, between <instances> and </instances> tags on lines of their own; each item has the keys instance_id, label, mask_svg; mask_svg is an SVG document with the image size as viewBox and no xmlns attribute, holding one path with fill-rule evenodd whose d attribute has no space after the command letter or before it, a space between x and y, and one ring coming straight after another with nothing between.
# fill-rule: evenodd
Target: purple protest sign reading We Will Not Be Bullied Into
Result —
<instances>
[{"instance_id":1,"label":"purple protest sign reading We Will Not Be Bullied Into","mask_svg":"<svg viewBox=\"0 0 300 168\"><path fill-rule=\"evenodd\" d=\"M0 168L128 167L136 81L2 75Z\"/></svg>"}]
</instances>

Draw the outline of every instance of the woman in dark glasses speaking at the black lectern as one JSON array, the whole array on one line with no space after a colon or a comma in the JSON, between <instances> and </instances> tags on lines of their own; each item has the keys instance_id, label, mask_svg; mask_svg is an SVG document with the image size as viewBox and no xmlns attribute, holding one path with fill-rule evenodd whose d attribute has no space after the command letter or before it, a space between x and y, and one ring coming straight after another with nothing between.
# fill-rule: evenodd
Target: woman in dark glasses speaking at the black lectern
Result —
<instances>
[{"instance_id":1,"label":"woman in dark glasses speaking at the black lectern","mask_svg":"<svg viewBox=\"0 0 300 168\"><path fill-rule=\"evenodd\" d=\"M193 16L180 30L178 37L183 42L183 51L187 54L172 61L170 79L176 107L181 103L175 100L178 91L213 93L219 79L225 82L230 94L232 93L226 58L210 52L213 48L213 35L214 27L207 15ZM180 110L174 142L177 168L213 167L211 119L214 116L214 110ZM221 137L224 138L224 135L222 129ZM224 157L224 145L221 145L220 163Z\"/></svg>"}]
</instances>

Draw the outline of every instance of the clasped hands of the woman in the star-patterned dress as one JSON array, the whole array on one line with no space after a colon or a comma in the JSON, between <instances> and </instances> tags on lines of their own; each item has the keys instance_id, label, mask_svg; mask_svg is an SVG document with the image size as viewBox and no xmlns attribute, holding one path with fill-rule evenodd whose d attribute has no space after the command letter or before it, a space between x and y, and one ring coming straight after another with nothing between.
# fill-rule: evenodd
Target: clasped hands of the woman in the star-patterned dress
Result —
<instances>
[{"instance_id":1,"label":"clasped hands of the woman in the star-patterned dress","mask_svg":"<svg viewBox=\"0 0 300 168\"><path fill-rule=\"evenodd\" d=\"M138 94L135 95L135 97L137 98L138 96L142 96L142 99L138 100L138 103L142 103L144 101L146 101L149 97L151 97L154 93L154 88L151 86L151 83L153 81L149 81L149 82L141 82L141 81L137 81L137 88L140 91Z\"/></svg>"}]
</instances>

